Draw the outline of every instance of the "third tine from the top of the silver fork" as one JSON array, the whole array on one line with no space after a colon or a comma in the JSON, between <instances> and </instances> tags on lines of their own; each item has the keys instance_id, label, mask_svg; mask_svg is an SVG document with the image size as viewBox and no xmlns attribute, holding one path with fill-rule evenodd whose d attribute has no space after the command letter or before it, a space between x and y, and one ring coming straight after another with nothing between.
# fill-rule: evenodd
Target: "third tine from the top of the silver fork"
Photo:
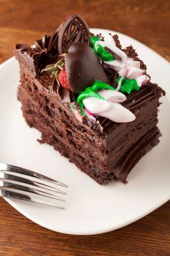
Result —
<instances>
[{"instance_id":1,"label":"third tine from the top of the silver fork","mask_svg":"<svg viewBox=\"0 0 170 256\"><path fill-rule=\"evenodd\" d=\"M42 195L42 196L45 196L45 197L53 198L55 200L60 200L60 201L66 202L66 200L64 200L61 197L58 197L57 195L50 194L48 192L45 192L45 191L42 191L42 190L39 190L39 189L27 187L26 184L25 185L13 184L12 181L10 181L10 180L8 181L6 179L0 178L0 184L1 183L2 183L2 186L0 186L0 189L2 189L2 188L19 189L19 190L22 190L22 191L25 191L25 192L33 193L35 195Z\"/></svg>"}]
</instances>

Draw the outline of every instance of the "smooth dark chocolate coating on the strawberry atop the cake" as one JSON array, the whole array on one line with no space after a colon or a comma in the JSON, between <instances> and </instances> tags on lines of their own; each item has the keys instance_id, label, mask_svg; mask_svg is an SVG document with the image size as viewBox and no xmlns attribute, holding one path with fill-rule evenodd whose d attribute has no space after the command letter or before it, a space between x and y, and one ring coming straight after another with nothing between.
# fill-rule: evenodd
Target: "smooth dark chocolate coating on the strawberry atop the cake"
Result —
<instances>
[{"instance_id":1,"label":"smooth dark chocolate coating on the strawberry atop the cake","mask_svg":"<svg viewBox=\"0 0 170 256\"><path fill-rule=\"evenodd\" d=\"M76 42L69 48L65 60L70 90L80 94L96 80L109 83L109 77L90 46Z\"/></svg>"}]
</instances>

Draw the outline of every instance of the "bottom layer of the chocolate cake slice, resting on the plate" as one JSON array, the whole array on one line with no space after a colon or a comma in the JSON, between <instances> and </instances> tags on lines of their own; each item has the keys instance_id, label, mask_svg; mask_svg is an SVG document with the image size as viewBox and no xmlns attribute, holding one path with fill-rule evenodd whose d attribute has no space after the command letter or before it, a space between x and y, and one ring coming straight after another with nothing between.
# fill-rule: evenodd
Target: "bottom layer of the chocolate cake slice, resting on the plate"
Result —
<instances>
[{"instance_id":1,"label":"bottom layer of the chocolate cake slice, resting on the plate","mask_svg":"<svg viewBox=\"0 0 170 256\"><path fill-rule=\"evenodd\" d=\"M31 111L27 112L24 108L23 115L31 127L34 124L36 129L39 129L40 132L43 131L43 143L48 143L54 146L54 148L60 151L64 157L69 158L71 162L74 162L74 164L80 168L80 170L83 170L100 184L107 184L107 182L112 179L120 179L120 181L125 182L131 168L134 167L136 162L138 162L139 159L147 153L147 151L150 151L153 146L158 144L158 138L160 136L160 132L157 127L150 130L150 132L147 132L147 135L144 135L141 140L137 141L134 146L129 148L125 156L121 157L115 165L111 165L111 170L108 171L106 170L106 167L102 168L101 165L95 164L93 161L94 157L88 155L88 151L88 154L85 154L85 151L83 150L84 148L79 148L78 154L72 140L70 143L66 143L66 140L62 139L64 134L60 133L58 136L56 132L53 132L53 128L49 127L50 124L48 122L47 124L45 123L42 116L36 116L36 113ZM93 165L91 165L91 162L93 162Z\"/></svg>"}]
</instances>

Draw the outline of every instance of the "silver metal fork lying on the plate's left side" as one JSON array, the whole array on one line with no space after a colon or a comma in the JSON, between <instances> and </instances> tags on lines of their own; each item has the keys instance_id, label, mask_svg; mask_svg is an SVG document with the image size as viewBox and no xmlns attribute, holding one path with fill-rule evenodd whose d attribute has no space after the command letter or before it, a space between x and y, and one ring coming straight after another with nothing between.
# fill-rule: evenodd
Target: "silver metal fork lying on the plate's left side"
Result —
<instances>
[{"instance_id":1,"label":"silver metal fork lying on the plate's left side","mask_svg":"<svg viewBox=\"0 0 170 256\"><path fill-rule=\"evenodd\" d=\"M0 163L0 196L64 208L66 184L32 170ZM60 204L61 203L61 204Z\"/></svg>"}]
</instances>

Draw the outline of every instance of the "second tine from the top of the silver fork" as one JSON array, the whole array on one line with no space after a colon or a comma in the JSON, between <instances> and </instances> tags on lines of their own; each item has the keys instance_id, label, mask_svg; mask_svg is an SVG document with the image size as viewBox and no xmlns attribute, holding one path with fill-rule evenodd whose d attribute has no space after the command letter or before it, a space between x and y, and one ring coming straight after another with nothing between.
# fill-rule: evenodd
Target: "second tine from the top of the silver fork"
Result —
<instances>
[{"instance_id":1,"label":"second tine from the top of the silver fork","mask_svg":"<svg viewBox=\"0 0 170 256\"><path fill-rule=\"evenodd\" d=\"M53 191L53 192L56 192L56 193L59 193L59 194L66 195L66 192L63 192L61 189L58 189L56 187L51 187L47 184L43 184L43 183L40 183L38 181L31 181L28 178L23 178L23 177L17 176L17 173L15 173L15 175L10 175L10 174L8 174L8 171L7 172L6 171L5 172L4 171L0 172L0 180L1 180L1 173L3 173L2 178L5 178L5 179L9 180L10 182L12 181L12 183L27 184L27 185L34 186L37 189L38 188L47 189L49 191Z\"/></svg>"}]
</instances>

